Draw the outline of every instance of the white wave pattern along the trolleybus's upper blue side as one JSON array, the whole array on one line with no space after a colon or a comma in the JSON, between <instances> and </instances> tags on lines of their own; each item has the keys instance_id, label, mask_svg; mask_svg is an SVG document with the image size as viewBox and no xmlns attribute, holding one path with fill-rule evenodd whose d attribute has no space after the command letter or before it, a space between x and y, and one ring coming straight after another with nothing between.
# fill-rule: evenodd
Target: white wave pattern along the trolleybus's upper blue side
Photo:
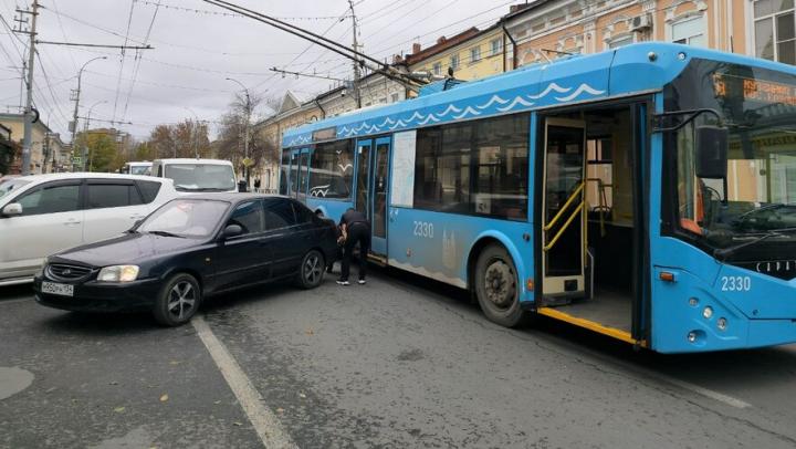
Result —
<instances>
[{"instance_id":1,"label":"white wave pattern along the trolleybus's upper blue side","mask_svg":"<svg viewBox=\"0 0 796 449\"><path fill-rule=\"evenodd\" d=\"M536 104L536 101L545 98L551 93L555 92L557 95L566 94L564 96L554 96L553 98L556 102L569 102L572 100L577 98L578 96L583 95L584 93L589 94L591 96L603 95L606 91L601 91L598 88L594 88L590 85L586 83L582 83L577 88L574 87L564 87L556 83L549 83L547 86L538 94L521 94L515 96L514 98L503 98L500 95L492 95L492 97L482 105L476 106L464 106L461 107L455 106L454 104L449 104L446 106L446 108L442 112L439 113L429 113L427 115L423 115L419 111L415 111L411 116L409 117L401 117L398 119L392 119L390 117L387 117L381 122L381 124L376 125L371 124L369 122L363 122L359 124L359 126L350 125L350 126L342 126L339 129L337 129L337 137L346 138L346 137L354 137L358 135L368 135L368 134L377 134L377 133L384 133L386 130L396 130L400 128L407 128L411 126L423 126L428 125L429 123L438 123L446 118L448 119L463 119L469 117L475 117L481 114L484 114L488 109L494 107L494 112L505 113L509 111L513 111L515 108L520 107L530 107ZM451 115L454 114L454 115ZM450 117L449 117L450 115ZM311 137L310 134L301 135L294 137L291 142L287 143L287 146L295 146L295 145L303 145L310 143Z\"/></svg>"}]
</instances>

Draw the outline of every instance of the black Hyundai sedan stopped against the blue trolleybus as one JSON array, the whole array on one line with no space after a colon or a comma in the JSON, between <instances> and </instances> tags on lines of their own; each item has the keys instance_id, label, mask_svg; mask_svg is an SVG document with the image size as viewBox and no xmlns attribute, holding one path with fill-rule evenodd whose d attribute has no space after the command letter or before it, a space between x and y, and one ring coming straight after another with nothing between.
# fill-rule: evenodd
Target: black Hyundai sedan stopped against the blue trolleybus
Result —
<instances>
[{"instance_id":1,"label":"black Hyundai sedan stopped against the blue trolleybus","mask_svg":"<svg viewBox=\"0 0 796 449\"><path fill-rule=\"evenodd\" d=\"M69 311L151 311L176 326L203 297L292 279L321 284L337 251L334 222L301 202L255 194L171 200L125 236L48 258L33 288Z\"/></svg>"}]
</instances>

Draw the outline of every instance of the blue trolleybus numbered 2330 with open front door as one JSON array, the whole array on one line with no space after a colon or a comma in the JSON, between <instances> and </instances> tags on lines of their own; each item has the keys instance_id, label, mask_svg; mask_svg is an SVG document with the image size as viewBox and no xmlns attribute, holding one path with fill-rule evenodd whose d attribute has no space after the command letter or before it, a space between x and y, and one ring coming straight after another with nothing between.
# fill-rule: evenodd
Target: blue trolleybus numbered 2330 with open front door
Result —
<instances>
[{"instance_id":1,"label":"blue trolleybus numbered 2330 with open front door","mask_svg":"<svg viewBox=\"0 0 796 449\"><path fill-rule=\"evenodd\" d=\"M281 191L370 259L663 353L796 342L796 69L640 43L291 129Z\"/></svg>"}]
</instances>

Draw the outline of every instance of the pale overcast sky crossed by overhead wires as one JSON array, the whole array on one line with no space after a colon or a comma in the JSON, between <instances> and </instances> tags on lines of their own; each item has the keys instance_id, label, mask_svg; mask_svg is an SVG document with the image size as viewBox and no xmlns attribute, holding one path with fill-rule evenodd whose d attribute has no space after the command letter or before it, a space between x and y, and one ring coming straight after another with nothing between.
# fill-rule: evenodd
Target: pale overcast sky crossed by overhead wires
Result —
<instances>
[{"instance_id":1,"label":"pale overcast sky crossed by overhead wires","mask_svg":"<svg viewBox=\"0 0 796 449\"><path fill-rule=\"evenodd\" d=\"M363 51L379 60L423 48L440 35L470 27L486 28L523 0L353 0ZM232 0L335 41L350 44L353 20L347 0ZM27 35L9 31L32 0L0 0L0 111L19 112L22 56ZM240 84L254 95L280 100L286 90L303 98L326 91L333 81L274 73L272 67L349 79L352 63L300 38L202 0L40 0L41 41L144 45L153 50L97 49L38 44L33 103L42 121L64 142L84 63L80 117L92 127L115 126L144 139L158 124L207 121L218 132ZM228 15L223 15L227 13ZM255 118L272 113L265 105ZM84 121L80 119L80 128ZM212 136L211 136L212 137Z\"/></svg>"}]
</instances>

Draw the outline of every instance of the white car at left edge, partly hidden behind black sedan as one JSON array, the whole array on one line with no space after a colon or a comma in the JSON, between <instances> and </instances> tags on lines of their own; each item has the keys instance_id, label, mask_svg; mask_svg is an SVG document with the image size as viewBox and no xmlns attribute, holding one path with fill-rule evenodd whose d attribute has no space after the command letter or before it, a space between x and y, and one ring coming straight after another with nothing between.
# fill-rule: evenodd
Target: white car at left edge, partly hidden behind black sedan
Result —
<instances>
[{"instance_id":1,"label":"white car at left edge, partly hidden behind black sedan","mask_svg":"<svg viewBox=\"0 0 796 449\"><path fill-rule=\"evenodd\" d=\"M170 179L52 174L0 184L0 285L30 282L50 254L115 237L176 198Z\"/></svg>"}]
</instances>

